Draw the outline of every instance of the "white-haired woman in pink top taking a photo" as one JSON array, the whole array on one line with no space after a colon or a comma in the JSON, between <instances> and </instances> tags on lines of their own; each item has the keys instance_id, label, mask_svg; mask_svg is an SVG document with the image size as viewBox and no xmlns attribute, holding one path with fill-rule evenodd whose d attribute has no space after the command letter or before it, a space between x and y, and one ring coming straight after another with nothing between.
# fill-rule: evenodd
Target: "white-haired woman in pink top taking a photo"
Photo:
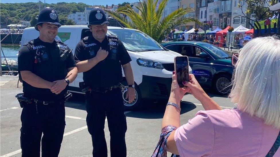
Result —
<instances>
[{"instance_id":1,"label":"white-haired woman in pink top taking a photo","mask_svg":"<svg viewBox=\"0 0 280 157\"><path fill-rule=\"evenodd\" d=\"M190 82L183 82L187 88L179 88L175 72L172 79L162 121L162 150L167 146L168 152L180 156L280 156L279 39L255 38L240 52L229 95L235 109L222 110L192 74ZM186 92L206 111L180 126L180 100ZM159 156L165 155L162 150Z\"/></svg>"}]
</instances>

